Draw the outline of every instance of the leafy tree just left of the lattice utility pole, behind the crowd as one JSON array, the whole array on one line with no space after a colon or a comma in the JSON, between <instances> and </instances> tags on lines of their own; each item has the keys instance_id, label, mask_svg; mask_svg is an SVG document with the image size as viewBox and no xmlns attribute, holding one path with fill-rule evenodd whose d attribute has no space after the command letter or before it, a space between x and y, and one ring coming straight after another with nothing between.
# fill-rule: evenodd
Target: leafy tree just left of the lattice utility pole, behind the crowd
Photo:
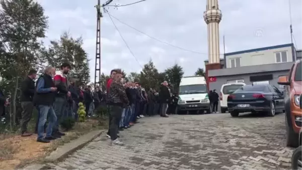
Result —
<instances>
[{"instance_id":1,"label":"leafy tree just left of the lattice utility pole, behind the crowd","mask_svg":"<svg viewBox=\"0 0 302 170\"><path fill-rule=\"evenodd\" d=\"M59 40L50 41L46 56L48 63L56 68L69 63L72 67L69 77L75 78L79 85L86 85L90 81L90 69L88 54L82 46L82 37L74 39L64 32Z\"/></svg>"}]
</instances>

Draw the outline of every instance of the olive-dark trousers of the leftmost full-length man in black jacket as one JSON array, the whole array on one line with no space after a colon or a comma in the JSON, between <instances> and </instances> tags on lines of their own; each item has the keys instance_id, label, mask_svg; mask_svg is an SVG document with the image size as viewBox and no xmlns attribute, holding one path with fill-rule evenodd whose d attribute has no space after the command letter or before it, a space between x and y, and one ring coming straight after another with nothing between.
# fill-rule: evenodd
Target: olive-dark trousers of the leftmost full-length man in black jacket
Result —
<instances>
[{"instance_id":1,"label":"olive-dark trousers of the leftmost full-length man in black jacket","mask_svg":"<svg viewBox=\"0 0 302 170\"><path fill-rule=\"evenodd\" d=\"M27 124L29 123L30 119L32 118L32 113L34 109L34 104L31 101L23 101L21 102L22 106L22 119L21 119L21 133L27 131Z\"/></svg>"}]
</instances>

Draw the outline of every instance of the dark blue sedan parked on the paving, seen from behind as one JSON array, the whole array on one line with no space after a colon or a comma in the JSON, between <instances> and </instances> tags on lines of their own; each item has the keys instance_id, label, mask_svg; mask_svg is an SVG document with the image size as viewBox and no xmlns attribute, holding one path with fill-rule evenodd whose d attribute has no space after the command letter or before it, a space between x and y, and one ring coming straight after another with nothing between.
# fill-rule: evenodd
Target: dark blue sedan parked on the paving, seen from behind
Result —
<instances>
[{"instance_id":1,"label":"dark blue sedan parked on the paving, seen from behind","mask_svg":"<svg viewBox=\"0 0 302 170\"><path fill-rule=\"evenodd\" d=\"M273 117L284 110L283 99L283 93L269 84L245 85L228 96L228 110L232 117L241 112L266 112Z\"/></svg>"}]
</instances>

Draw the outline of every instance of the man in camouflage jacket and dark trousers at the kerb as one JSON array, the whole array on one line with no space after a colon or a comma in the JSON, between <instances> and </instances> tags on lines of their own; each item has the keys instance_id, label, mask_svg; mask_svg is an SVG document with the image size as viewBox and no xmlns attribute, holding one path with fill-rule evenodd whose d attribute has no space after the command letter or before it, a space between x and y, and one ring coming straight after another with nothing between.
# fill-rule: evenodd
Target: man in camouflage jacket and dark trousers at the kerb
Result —
<instances>
[{"instance_id":1,"label":"man in camouflage jacket and dark trousers at the kerb","mask_svg":"<svg viewBox=\"0 0 302 170\"><path fill-rule=\"evenodd\" d=\"M117 145L123 144L118 140L117 132L119 128L119 122L122 118L123 108L129 105L129 100L126 95L125 88L121 82L122 76L122 71L120 69L117 69L113 81L110 85L110 90L108 94L108 104L111 105L111 121L109 133L112 144Z\"/></svg>"}]
</instances>

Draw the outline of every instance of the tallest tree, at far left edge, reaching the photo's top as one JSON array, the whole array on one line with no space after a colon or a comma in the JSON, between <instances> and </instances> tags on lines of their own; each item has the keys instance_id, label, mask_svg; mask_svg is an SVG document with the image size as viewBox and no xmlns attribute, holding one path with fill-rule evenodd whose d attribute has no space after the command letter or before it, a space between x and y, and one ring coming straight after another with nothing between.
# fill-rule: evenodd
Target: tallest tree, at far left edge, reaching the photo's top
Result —
<instances>
[{"instance_id":1,"label":"tallest tree, at far left edge, reaching the photo's top","mask_svg":"<svg viewBox=\"0 0 302 170\"><path fill-rule=\"evenodd\" d=\"M0 0L0 5L0 43L6 47L0 57L0 76L9 81L6 94L12 94L11 121L15 121L19 82L30 69L42 66L39 38L45 37L47 17L33 0Z\"/></svg>"}]
</instances>

